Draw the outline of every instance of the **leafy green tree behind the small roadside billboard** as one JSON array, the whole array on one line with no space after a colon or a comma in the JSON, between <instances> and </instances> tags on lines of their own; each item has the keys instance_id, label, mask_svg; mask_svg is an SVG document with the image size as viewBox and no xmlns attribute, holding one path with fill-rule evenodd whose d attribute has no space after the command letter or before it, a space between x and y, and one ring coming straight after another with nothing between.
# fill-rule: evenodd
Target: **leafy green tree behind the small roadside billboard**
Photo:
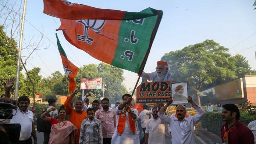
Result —
<instances>
[{"instance_id":1,"label":"leafy green tree behind the small roadside billboard","mask_svg":"<svg viewBox=\"0 0 256 144\"><path fill-rule=\"evenodd\" d=\"M75 81L77 82L77 88L79 89L82 78L104 79L106 84L105 97L109 98L110 102L116 102L122 99L121 96L124 93L127 93L125 86L122 84L124 80L123 74L123 69L101 62L99 65L83 65L83 67L79 69ZM62 86L65 93L68 94L68 81L66 78L63 79ZM90 101L99 100L100 97L103 96L103 90L91 90L91 92L92 97L90 98Z\"/></svg>"}]
</instances>

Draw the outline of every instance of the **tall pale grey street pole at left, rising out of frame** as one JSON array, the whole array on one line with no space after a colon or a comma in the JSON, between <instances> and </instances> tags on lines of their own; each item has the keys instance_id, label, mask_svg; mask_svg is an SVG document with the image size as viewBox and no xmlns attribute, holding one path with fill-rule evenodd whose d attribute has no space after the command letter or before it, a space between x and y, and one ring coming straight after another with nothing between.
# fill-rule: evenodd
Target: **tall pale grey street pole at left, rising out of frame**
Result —
<instances>
[{"instance_id":1,"label":"tall pale grey street pole at left, rising out of frame","mask_svg":"<svg viewBox=\"0 0 256 144\"><path fill-rule=\"evenodd\" d=\"M19 36L19 51L18 51L18 60L17 60L17 72L16 72L16 83L15 83L15 93L14 99L18 99L18 90L19 90L19 69L21 65L21 47L22 47L22 38L23 38L23 29L25 21L25 12L26 12L26 0L24 0L23 12L22 12L22 21L21 21L21 33ZM34 101L35 102L35 101Z\"/></svg>"}]
</instances>

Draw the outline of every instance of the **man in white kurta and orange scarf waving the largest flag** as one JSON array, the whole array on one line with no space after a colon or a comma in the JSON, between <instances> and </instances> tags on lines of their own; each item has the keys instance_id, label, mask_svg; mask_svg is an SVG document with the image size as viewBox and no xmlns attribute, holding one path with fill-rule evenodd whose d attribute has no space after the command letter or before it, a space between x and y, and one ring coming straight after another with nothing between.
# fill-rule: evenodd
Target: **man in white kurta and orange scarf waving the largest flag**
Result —
<instances>
[{"instance_id":1,"label":"man in white kurta and orange scarf waving the largest flag","mask_svg":"<svg viewBox=\"0 0 256 144\"><path fill-rule=\"evenodd\" d=\"M115 108L117 126L111 144L139 144L139 134L135 126L135 120L139 119L138 111L130 107L130 94L124 94L122 100L123 102Z\"/></svg>"}]
</instances>

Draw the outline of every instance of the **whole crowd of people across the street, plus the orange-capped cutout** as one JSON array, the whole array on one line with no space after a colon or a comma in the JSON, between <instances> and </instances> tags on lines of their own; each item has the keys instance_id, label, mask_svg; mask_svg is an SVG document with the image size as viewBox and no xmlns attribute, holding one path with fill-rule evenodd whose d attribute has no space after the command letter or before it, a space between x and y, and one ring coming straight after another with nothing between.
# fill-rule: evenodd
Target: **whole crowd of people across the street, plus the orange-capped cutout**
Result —
<instances>
[{"instance_id":1,"label":"whole crowd of people across the street, plus the orange-capped cutout","mask_svg":"<svg viewBox=\"0 0 256 144\"><path fill-rule=\"evenodd\" d=\"M171 74L168 72L166 62L157 63L157 71L154 73L144 73L143 76L149 80L168 81ZM26 96L21 96L18 100L10 98L10 87L14 79L6 83L6 93L0 102L8 102L18 106L13 110L13 118L10 122L21 125L21 133L17 144L37 144L36 130L33 122L33 113L28 110L30 100ZM48 100L49 108L40 115L40 118L51 125L50 132L44 133L44 143L49 144L165 144L165 129L171 133L171 143L173 144L195 144L194 126L198 123L205 111L196 104L192 97L187 100L197 111L191 116L187 113L185 105L177 105L176 112L168 116L166 110L173 102L173 98L168 98L165 105L156 104L151 110L145 105L139 113L132 107L132 97L130 94L122 95L122 102L116 103L115 108L110 108L108 98L92 102L92 108L88 107L87 93L82 99L75 101L72 107L72 98L78 93L74 90L67 97L64 105L58 111L55 108L56 101ZM99 105L102 105L99 108ZM207 111L213 109L209 102ZM255 143L255 123L251 122L249 128L239 121L239 109L234 104L221 106L224 125L220 127L223 144L254 144ZM256 114L255 114L256 116ZM139 137L137 123L144 132L143 138ZM254 130L254 134L252 133ZM141 132L142 132L141 131ZM0 125L0 134L6 132ZM6 137L1 137L0 142ZM9 138L11 138L9 136Z\"/></svg>"}]
</instances>

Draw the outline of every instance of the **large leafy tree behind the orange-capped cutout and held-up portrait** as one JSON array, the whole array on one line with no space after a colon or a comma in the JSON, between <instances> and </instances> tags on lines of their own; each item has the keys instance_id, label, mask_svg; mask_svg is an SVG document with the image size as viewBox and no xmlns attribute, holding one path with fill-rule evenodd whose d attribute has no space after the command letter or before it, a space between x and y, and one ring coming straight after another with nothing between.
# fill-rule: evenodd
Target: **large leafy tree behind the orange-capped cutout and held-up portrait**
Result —
<instances>
[{"instance_id":1,"label":"large leafy tree behind the orange-capped cutout and held-up portrait","mask_svg":"<svg viewBox=\"0 0 256 144\"><path fill-rule=\"evenodd\" d=\"M196 91L198 97L202 84L222 83L236 77L235 59L228 53L228 48L214 40L171 51L161 60L168 62L173 80L188 81L190 91Z\"/></svg>"}]
</instances>

